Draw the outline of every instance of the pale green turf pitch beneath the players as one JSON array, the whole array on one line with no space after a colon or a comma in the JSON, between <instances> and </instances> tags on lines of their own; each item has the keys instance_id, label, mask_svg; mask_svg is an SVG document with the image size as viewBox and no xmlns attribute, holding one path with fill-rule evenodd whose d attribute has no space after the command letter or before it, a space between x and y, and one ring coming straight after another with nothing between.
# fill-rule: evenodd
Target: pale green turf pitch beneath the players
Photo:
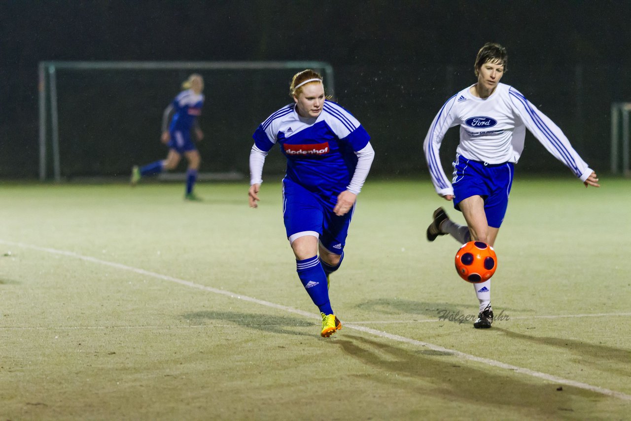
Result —
<instances>
[{"instance_id":1,"label":"pale green turf pitch beneath the players","mask_svg":"<svg viewBox=\"0 0 631 421\"><path fill-rule=\"evenodd\" d=\"M147 103L155 136L137 136L157 137L164 98ZM631 198L628 179L602 182L514 182L480 330L459 244L425 239L437 207L462 215L428 181L369 179L331 338L295 273L280 178L257 209L245 181L200 184L201 203L170 183L5 182L0 418L628 418Z\"/></svg>"}]
</instances>

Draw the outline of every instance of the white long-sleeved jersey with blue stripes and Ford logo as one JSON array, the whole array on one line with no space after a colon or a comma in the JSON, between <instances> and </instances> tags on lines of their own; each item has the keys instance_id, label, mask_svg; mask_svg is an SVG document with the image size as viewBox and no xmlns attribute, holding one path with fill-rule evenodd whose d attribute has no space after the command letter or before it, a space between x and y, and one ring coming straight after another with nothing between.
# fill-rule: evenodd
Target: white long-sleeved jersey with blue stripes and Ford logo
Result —
<instances>
[{"instance_id":1,"label":"white long-sleeved jersey with blue stripes and Ford logo","mask_svg":"<svg viewBox=\"0 0 631 421\"><path fill-rule=\"evenodd\" d=\"M440 163L439 148L447 129L458 125L460 143L456 152L470 160L491 164L516 163L524 150L528 128L546 150L581 181L592 173L561 129L521 92L498 83L490 97L478 98L470 89L471 86L461 90L445 102L423 142L432 182L440 196L454 194Z\"/></svg>"}]
</instances>

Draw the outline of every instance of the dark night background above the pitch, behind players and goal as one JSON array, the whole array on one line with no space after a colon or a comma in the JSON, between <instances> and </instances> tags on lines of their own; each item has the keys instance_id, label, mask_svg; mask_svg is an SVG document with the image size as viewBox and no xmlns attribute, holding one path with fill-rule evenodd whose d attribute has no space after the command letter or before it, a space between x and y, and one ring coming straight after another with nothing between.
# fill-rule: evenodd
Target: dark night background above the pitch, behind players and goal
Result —
<instances>
[{"instance_id":1,"label":"dark night background above the pitch, behind players and goal","mask_svg":"<svg viewBox=\"0 0 631 421\"><path fill-rule=\"evenodd\" d=\"M329 62L335 100L371 134L372 174L384 176L427 176L428 126L475 82L475 55L488 41L508 49L502 82L562 127L598 172L609 170L611 102L631 101L629 1L129 3L2 2L0 177L38 177L40 61ZM127 175L134 163L163 158L162 110L189 73L59 71L62 175ZM201 170L247 173L251 134L288 104L295 71L201 73ZM444 163L456 143L454 128ZM266 172L282 167L273 151ZM530 134L518 169L572 176Z\"/></svg>"}]
</instances>

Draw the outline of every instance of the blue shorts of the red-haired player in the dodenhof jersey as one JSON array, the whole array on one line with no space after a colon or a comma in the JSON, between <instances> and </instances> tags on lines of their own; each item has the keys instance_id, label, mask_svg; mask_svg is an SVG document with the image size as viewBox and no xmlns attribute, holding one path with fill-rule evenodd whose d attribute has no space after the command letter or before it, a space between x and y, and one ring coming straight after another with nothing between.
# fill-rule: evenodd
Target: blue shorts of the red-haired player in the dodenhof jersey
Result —
<instances>
[{"instance_id":1,"label":"blue shorts of the red-haired player in the dodenhof jersey","mask_svg":"<svg viewBox=\"0 0 631 421\"><path fill-rule=\"evenodd\" d=\"M342 254L355 206L346 215L333 213L334 203L289 179L283 179L283 221L287 238L303 232L319 235L320 243L334 254Z\"/></svg>"}]
</instances>

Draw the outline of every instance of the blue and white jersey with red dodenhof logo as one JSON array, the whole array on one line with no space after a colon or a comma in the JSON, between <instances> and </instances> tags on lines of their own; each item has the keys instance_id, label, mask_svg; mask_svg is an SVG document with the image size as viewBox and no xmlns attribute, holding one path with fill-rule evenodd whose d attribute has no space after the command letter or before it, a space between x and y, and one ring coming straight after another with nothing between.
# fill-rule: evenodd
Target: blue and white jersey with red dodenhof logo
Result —
<instances>
[{"instance_id":1,"label":"blue and white jersey with red dodenhof logo","mask_svg":"<svg viewBox=\"0 0 631 421\"><path fill-rule=\"evenodd\" d=\"M319 116L310 118L299 116L294 103L286 105L262 122L252 137L265 153L278 143L287 158L285 177L324 196L346 189L357 166L355 152L370 141L360 122L329 100Z\"/></svg>"}]
</instances>

